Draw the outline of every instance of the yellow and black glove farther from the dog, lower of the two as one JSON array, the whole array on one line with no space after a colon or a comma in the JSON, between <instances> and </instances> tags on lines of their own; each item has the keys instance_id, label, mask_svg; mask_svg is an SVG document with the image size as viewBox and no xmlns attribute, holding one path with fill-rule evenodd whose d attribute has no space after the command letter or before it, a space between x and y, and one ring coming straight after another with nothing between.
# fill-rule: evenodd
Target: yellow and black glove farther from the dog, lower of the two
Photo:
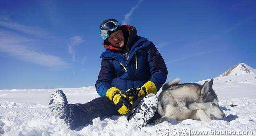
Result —
<instances>
[{"instance_id":1,"label":"yellow and black glove farther from the dog, lower of the two","mask_svg":"<svg viewBox=\"0 0 256 136\"><path fill-rule=\"evenodd\" d=\"M132 111L132 96L126 96L116 87L111 87L106 92L106 97L114 102L118 113L128 115Z\"/></svg>"}]
</instances>

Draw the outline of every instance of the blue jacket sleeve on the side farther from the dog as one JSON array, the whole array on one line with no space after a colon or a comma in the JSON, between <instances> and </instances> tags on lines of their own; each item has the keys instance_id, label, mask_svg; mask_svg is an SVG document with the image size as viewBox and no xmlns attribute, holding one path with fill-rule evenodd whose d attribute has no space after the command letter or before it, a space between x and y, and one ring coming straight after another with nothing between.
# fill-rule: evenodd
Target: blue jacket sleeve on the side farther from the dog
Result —
<instances>
[{"instance_id":1,"label":"blue jacket sleeve on the side farther from the dog","mask_svg":"<svg viewBox=\"0 0 256 136\"><path fill-rule=\"evenodd\" d=\"M106 97L106 91L112 87L111 82L114 79L114 68L108 60L101 60L100 73L95 83L97 93L101 97Z\"/></svg>"}]
</instances>

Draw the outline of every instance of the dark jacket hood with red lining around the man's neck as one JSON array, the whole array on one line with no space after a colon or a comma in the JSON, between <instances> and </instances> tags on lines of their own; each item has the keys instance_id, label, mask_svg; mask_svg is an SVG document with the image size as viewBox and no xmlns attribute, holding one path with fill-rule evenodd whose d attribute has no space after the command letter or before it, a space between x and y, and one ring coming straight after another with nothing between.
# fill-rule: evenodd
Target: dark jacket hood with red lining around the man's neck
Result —
<instances>
[{"instance_id":1,"label":"dark jacket hood with red lining around the man's neck","mask_svg":"<svg viewBox=\"0 0 256 136\"><path fill-rule=\"evenodd\" d=\"M124 33L124 44L126 49L114 47L107 41L107 39L103 41L103 47L105 49L108 49L111 51L117 51L117 52L123 52L124 50L129 50L133 45L134 37L137 35L137 30L133 26L122 25L122 31Z\"/></svg>"}]
</instances>

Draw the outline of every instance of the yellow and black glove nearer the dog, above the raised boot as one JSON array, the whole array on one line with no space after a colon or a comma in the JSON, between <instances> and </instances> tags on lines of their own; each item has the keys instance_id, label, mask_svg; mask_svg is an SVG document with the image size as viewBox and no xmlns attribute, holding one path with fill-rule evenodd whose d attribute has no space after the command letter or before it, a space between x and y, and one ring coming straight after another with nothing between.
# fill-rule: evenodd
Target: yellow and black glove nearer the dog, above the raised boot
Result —
<instances>
[{"instance_id":1,"label":"yellow and black glove nearer the dog, above the raised boot","mask_svg":"<svg viewBox=\"0 0 256 136\"><path fill-rule=\"evenodd\" d=\"M153 82L148 81L140 88L128 89L126 91L126 93L124 93L124 94L133 96L132 97L133 101L136 101L136 99L138 99L140 97L145 97L146 95L148 95L150 93L156 94L156 92L157 92L156 85Z\"/></svg>"}]
</instances>

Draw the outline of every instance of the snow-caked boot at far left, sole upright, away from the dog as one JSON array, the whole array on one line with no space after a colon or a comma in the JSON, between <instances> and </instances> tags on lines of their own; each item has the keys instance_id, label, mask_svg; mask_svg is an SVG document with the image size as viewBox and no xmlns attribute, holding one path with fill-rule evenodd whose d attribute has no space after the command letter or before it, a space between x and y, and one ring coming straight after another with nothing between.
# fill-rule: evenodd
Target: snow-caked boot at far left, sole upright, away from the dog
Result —
<instances>
[{"instance_id":1,"label":"snow-caked boot at far left, sole upright, away from the dog","mask_svg":"<svg viewBox=\"0 0 256 136\"><path fill-rule=\"evenodd\" d=\"M74 130L73 123L73 112L68 105L66 95L61 90L56 90L52 93L49 102L50 112L54 115L56 119L60 118L64 120L66 125Z\"/></svg>"}]
</instances>

